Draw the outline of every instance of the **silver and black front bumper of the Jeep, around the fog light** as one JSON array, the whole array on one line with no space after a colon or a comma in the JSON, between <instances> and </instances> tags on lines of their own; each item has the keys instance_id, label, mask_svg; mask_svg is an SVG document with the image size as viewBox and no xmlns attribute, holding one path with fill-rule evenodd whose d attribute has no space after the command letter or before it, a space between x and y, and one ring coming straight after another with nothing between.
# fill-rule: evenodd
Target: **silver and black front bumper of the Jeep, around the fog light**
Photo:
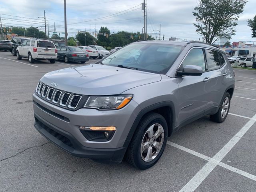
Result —
<instances>
[{"instance_id":1,"label":"silver and black front bumper of the Jeep, around the fog light","mask_svg":"<svg viewBox=\"0 0 256 192\"><path fill-rule=\"evenodd\" d=\"M35 128L56 146L73 156L100 162L122 161L127 147L124 143L139 112L136 102L132 100L118 111L86 108L71 111L42 100L36 94L33 94L33 101ZM87 140L78 126L116 126L116 131L110 140L96 142Z\"/></svg>"}]
</instances>

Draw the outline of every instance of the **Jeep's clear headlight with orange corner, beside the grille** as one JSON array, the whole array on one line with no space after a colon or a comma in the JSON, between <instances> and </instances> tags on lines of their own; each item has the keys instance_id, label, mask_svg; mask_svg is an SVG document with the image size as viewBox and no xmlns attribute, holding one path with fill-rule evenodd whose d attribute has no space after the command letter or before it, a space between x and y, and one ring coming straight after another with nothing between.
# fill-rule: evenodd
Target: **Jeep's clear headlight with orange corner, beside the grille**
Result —
<instances>
[{"instance_id":1,"label":"Jeep's clear headlight with orange corner, beside the grille","mask_svg":"<svg viewBox=\"0 0 256 192\"><path fill-rule=\"evenodd\" d=\"M132 95L89 96L84 107L99 110L120 109L132 100Z\"/></svg>"}]
</instances>

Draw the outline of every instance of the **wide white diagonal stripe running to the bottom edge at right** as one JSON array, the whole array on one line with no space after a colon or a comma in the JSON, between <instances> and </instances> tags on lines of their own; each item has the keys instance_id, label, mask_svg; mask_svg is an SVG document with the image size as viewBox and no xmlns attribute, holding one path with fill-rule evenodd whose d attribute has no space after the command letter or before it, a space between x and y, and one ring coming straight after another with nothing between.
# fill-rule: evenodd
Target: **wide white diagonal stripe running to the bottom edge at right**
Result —
<instances>
[{"instance_id":1,"label":"wide white diagonal stripe running to the bottom edge at right","mask_svg":"<svg viewBox=\"0 0 256 192\"><path fill-rule=\"evenodd\" d=\"M232 137L229 142L206 163L196 175L180 190L180 192L193 192L205 180L205 178L214 170L220 161L230 152L242 136L256 122L256 114Z\"/></svg>"}]
</instances>

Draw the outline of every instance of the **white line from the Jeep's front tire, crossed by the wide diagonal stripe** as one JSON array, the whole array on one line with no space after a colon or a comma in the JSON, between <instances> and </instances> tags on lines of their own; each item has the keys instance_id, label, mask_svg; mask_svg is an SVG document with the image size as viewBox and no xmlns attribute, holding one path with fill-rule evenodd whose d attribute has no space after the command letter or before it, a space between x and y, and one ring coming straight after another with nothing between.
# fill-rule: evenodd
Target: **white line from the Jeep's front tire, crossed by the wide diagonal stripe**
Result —
<instances>
[{"instance_id":1,"label":"white line from the Jeep's front tire, crossed by the wide diagonal stripe","mask_svg":"<svg viewBox=\"0 0 256 192\"><path fill-rule=\"evenodd\" d=\"M194 156L197 156L197 157L199 157L199 158L202 158L202 159L204 159L204 160L206 160L206 161L208 161L208 162L211 160L211 158L208 157L208 156L206 156L206 155L200 154L200 153L195 152L195 151L193 151L193 150L190 150L190 149L188 149L188 148L186 148L186 147L180 146L180 145L178 145L178 144L176 144L176 143L167 141L167 144L170 145L170 146L176 147L176 148L178 148L178 149L180 149L180 150L182 150L182 151L188 152L188 153L190 153L190 154L192 154L192 155L194 155ZM226 168L226 169L228 169L228 170L230 170L230 171L232 171L232 172L235 172L235 173L237 173L237 174L240 174L240 175L242 175L242 176L245 176L245 177L247 177L247 178L249 178L249 179L252 179L252 180L256 181L256 176L254 176L254 175L252 175L252 174L250 174L250 173L244 172L244 171L242 171L242 170L239 170L239 169L237 169L237 168L234 168L234 167L232 167L232 166L230 166L230 165L227 165L227 164L225 164L225 163L222 163L222 162L219 162L218 165L221 166L221 167L223 167L223 168Z\"/></svg>"}]
</instances>

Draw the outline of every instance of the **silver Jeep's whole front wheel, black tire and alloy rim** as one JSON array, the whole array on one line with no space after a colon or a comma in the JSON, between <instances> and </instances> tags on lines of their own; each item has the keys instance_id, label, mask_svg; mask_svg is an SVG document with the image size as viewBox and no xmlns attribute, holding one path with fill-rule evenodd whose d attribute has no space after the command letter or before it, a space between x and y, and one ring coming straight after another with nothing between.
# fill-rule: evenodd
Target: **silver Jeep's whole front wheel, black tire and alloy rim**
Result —
<instances>
[{"instance_id":1,"label":"silver Jeep's whole front wheel, black tire and alloy rim","mask_svg":"<svg viewBox=\"0 0 256 192\"><path fill-rule=\"evenodd\" d=\"M139 123L126 151L126 160L138 169L150 168L162 156L167 142L167 123L157 113L148 114Z\"/></svg>"}]
</instances>

